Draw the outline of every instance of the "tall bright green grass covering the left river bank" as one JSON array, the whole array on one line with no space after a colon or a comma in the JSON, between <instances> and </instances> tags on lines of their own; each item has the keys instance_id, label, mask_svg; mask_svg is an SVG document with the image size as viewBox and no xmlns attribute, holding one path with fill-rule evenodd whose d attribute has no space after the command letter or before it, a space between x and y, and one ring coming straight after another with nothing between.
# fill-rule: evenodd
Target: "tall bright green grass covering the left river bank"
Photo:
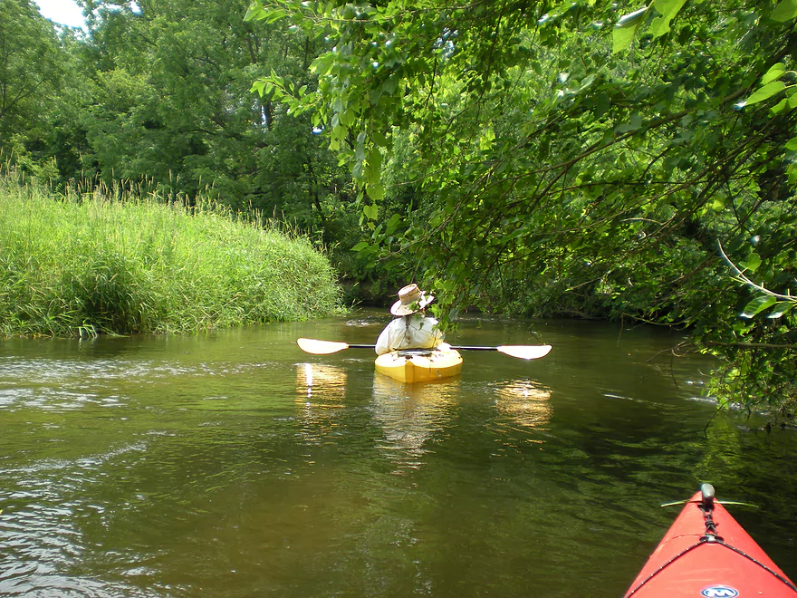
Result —
<instances>
[{"instance_id":1,"label":"tall bright green grass covering the left river bank","mask_svg":"<svg viewBox=\"0 0 797 598\"><path fill-rule=\"evenodd\" d=\"M309 242L213 207L53 198L0 178L0 334L186 333L336 313Z\"/></svg>"}]
</instances>

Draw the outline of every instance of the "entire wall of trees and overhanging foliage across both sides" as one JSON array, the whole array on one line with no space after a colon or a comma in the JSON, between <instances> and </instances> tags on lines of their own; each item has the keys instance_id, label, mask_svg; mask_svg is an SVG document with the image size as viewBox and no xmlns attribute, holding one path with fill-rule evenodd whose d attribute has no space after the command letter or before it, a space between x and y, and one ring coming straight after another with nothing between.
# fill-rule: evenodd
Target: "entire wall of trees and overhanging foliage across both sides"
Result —
<instances>
[{"instance_id":1,"label":"entire wall of trees and overhanging foliage across both sides","mask_svg":"<svg viewBox=\"0 0 797 598\"><path fill-rule=\"evenodd\" d=\"M797 0L81 2L0 5L26 175L283 220L448 321L681 326L724 400L795 409Z\"/></svg>"}]
</instances>

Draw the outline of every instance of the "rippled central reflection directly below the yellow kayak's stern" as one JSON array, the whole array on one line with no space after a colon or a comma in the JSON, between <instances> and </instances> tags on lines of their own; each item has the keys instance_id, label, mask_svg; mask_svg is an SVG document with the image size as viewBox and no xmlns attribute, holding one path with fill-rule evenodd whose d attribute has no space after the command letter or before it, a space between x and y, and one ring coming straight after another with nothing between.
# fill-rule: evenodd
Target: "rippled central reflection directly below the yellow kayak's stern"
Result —
<instances>
[{"instance_id":1,"label":"rippled central reflection directly below the yellow kayak's stern","mask_svg":"<svg viewBox=\"0 0 797 598\"><path fill-rule=\"evenodd\" d=\"M380 448L396 465L393 473L420 467L427 443L451 420L459 385L458 379L405 384L374 376L373 417L384 433Z\"/></svg>"}]
</instances>

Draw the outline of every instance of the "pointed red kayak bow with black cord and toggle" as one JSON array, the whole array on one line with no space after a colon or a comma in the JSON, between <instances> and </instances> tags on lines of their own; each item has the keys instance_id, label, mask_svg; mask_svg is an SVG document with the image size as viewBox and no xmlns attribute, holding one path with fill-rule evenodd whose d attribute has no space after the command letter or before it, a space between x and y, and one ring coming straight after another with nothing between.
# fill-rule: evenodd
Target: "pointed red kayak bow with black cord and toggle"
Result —
<instances>
[{"instance_id":1,"label":"pointed red kayak bow with black cord and toggle","mask_svg":"<svg viewBox=\"0 0 797 598\"><path fill-rule=\"evenodd\" d=\"M797 597L797 586L714 497L703 484L687 501L625 598Z\"/></svg>"}]
</instances>

